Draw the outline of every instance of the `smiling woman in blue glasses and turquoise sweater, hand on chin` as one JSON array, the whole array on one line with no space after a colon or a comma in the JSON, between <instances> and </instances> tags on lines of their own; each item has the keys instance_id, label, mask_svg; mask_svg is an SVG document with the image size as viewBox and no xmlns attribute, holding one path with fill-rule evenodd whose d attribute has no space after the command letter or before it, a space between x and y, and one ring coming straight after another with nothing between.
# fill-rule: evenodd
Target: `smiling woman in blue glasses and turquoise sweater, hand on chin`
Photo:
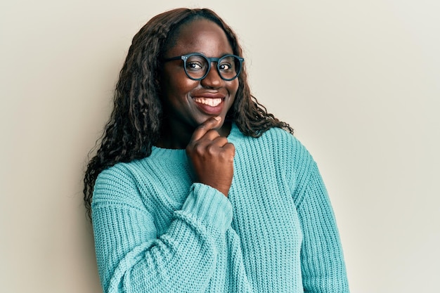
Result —
<instances>
[{"instance_id":1,"label":"smiling woman in blue glasses and turquoise sweater, hand on chin","mask_svg":"<svg viewBox=\"0 0 440 293\"><path fill-rule=\"evenodd\" d=\"M84 179L104 292L348 292L316 164L241 56L208 9L134 37Z\"/></svg>"}]
</instances>

